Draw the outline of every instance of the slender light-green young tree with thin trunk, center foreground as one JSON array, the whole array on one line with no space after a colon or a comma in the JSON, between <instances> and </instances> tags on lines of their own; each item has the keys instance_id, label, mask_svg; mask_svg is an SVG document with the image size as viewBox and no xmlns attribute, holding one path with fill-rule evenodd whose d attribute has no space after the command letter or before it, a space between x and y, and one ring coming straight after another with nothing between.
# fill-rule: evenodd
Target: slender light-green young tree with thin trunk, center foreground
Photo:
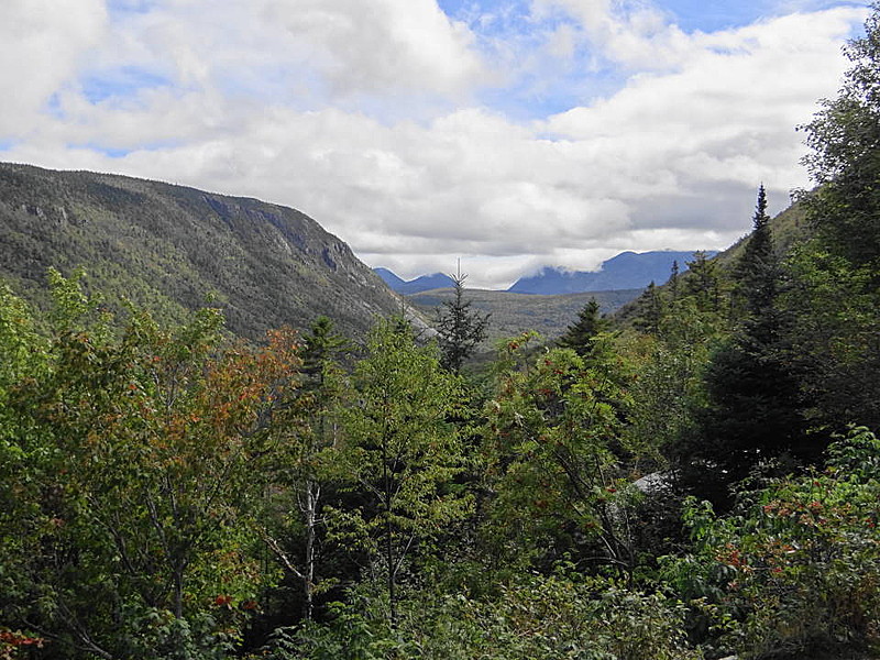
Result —
<instances>
[{"instance_id":1,"label":"slender light-green young tree with thin trunk, center foreground","mask_svg":"<svg viewBox=\"0 0 880 660\"><path fill-rule=\"evenodd\" d=\"M417 346L394 320L373 330L353 378L356 405L348 409L341 461L363 504L344 517L381 560L394 623L406 560L469 508L470 499L450 487L463 469L460 438L447 420L457 381L431 346Z\"/></svg>"}]
</instances>

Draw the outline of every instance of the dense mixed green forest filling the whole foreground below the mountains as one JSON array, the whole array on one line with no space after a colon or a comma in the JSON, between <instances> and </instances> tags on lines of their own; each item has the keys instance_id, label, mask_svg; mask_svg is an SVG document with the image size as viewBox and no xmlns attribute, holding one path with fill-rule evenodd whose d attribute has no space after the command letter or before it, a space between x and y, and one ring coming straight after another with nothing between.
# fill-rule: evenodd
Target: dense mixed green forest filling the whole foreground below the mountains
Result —
<instances>
[{"instance_id":1,"label":"dense mixed green forest filling the whole foreground below the mountains","mask_svg":"<svg viewBox=\"0 0 880 660\"><path fill-rule=\"evenodd\" d=\"M866 28L805 127L810 238L756 184L725 267L486 367L461 286L427 345L394 316L230 341L218 309L111 315L100 279L53 272L45 310L0 288L0 658L877 658Z\"/></svg>"}]
</instances>

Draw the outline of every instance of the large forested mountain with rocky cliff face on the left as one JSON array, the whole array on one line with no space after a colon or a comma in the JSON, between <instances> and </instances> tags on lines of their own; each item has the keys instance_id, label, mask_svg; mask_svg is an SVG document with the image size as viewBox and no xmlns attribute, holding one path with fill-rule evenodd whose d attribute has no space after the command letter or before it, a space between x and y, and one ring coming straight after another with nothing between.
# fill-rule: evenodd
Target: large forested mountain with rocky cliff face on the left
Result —
<instances>
[{"instance_id":1,"label":"large forested mountain with rocky cliff face on the left","mask_svg":"<svg viewBox=\"0 0 880 660\"><path fill-rule=\"evenodd\" d=\"M0 279L45 305L46 271L85 267L110 308L163 321L216 298L229 329L262 338L319 315L360 336L399 299L308 216L256 199L90 172L0 163Z\"/></svg>"}]
</instances>

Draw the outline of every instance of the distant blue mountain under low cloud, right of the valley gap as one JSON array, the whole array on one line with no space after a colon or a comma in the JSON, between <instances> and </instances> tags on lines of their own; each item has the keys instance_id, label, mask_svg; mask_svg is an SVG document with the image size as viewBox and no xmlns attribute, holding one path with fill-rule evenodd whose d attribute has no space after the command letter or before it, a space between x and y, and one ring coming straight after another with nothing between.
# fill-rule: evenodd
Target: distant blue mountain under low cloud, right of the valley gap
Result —
<instances>
[{"instance_id":1,"label":"distant blue mountain under low cloud, right of the valley gap","mask_svg":"<svg viewBox=\"0 0 880 660\"><path fill-rule=\"evenodd\" d=\"M715 252L707 254L713 255ZM507 290L516 294L557 295L640 289L651 282L661 284L669 279L672 262L678 261L679 267L684 271L685 262L690 260L693 260L693 252L622 252L603 262L595 272L546 266L537 275L519 278Z\"/></svg>"}]
</instances>

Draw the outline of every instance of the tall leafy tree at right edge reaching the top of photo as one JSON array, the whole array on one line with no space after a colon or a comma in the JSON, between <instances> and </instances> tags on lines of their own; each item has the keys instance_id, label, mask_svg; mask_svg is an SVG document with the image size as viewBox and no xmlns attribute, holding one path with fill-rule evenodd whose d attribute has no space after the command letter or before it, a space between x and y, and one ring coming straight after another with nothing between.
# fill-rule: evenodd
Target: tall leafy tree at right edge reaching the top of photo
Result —
<instances>
[{"instance_id":1,"label":"tall leafy tree at right edge reaching the top of photo","mask_svg":"<svg viewBox=\"0 0 880 660\"><path fill-rule=\"evenodd\" d=\"M836 98L802 127L818 185L804 196L816 237L790 260L784 296L811 418L840 430L880 425L880 6L847 45L853 66Z\"/></svg>"}]
</instances>

